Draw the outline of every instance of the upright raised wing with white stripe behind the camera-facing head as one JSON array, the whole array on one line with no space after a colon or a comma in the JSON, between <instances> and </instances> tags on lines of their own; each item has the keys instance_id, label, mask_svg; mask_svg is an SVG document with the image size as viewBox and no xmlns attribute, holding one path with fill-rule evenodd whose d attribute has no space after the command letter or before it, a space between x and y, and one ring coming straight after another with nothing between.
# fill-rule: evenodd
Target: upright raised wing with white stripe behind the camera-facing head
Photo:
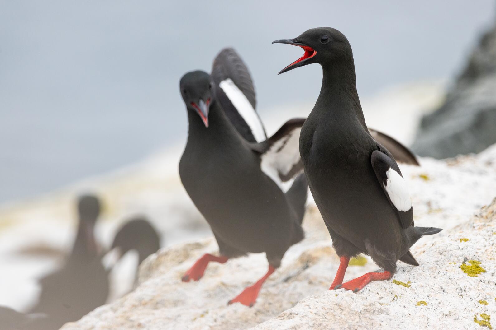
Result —
<instances>
[{"instance_id":1,"label":"upright raised wing with white stripe behind the camera-facing head","mask_svg":"<svg viewBox=\"0 0 496 330\"><path fill-rule=\"evenodd\" d=\"M212 77L217 85L217 99L238 132L249 142L264 141L267 135L255 111L253 81L234 49L225 48L215 57Z\"/></svg>"}]
</instances>

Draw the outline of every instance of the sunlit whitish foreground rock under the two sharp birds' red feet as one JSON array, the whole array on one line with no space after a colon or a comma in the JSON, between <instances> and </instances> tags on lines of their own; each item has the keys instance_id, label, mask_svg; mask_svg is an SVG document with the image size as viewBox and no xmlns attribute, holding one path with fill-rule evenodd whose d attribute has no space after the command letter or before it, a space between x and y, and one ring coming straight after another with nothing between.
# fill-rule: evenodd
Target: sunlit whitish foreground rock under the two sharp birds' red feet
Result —
<instances>
[{"instance_id":1,"label":"sunlit whitish foreground rock under the two sharp birds' red feet","mask_svg":"<svg viewBox=\"0 0 496 330\"><path fill-rule=\"evenodd\" d=\"M410 287L388 280L358 293L327 291L338 258L310 203L306 239L288 250L252 308L227 301L266 272L264 255L212 264L200 281L181 282L199 256L216 252L210 238L152 255L135 291L62 329L481 329L474 317L496 319L496 202L478 211L496 196L496 146L478 156L421 164L401 168L416 225L445 230L414 245L421 266L399 262L393 279L411 281ZM367 260L350 266L345 280L377 269ZM468 276L460 269L464 260L480 261L486 272Z\"/></svg>"}]
</instances>

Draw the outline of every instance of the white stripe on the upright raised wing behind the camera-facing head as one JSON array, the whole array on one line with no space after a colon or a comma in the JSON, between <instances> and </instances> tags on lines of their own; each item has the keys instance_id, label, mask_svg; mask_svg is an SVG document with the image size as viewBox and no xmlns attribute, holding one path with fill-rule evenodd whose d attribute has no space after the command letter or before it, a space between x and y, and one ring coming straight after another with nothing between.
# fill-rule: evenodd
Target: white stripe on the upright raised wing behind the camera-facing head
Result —
<instances>
[{"instance_id":1,"label":"white stripe on the upright raised wing behind the camera-facing head","mask_svg":"<svg viewBox=\"0 0 496 330\"><path fill-rule=\"evenodd\" d=\"M249 103L247 97L243 92L236 86L236 84L227 78L219 84L220 88L226 93L229 100L232 102L239 114L245 119L246 123L251 129L251 133L255 137L256 142L264 141L267 136L263 130L262 122L255 112L255 109Z\"/></svg>"}]
</instances>

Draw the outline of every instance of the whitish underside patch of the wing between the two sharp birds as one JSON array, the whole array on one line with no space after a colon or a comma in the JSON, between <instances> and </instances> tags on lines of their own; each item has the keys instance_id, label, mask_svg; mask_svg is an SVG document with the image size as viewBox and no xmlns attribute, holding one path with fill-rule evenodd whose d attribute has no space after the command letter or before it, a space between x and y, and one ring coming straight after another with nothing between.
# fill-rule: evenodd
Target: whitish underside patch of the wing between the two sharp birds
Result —
<instances>
[{"instance_id":1,"label":"whitish underside patch of the wing between the two sharp birds","mask_svg":"<svg viewBox=\"0 0 496 330\"><path fill-rule=\"evenodd\" d=\"M293 179L283 182L280 176L288 175L301 158L299 148L301 130L301 127L295 128L291 133L277 140L261 156L260 168L283 192L291 187Z\"/></svg>"}]
</instances>

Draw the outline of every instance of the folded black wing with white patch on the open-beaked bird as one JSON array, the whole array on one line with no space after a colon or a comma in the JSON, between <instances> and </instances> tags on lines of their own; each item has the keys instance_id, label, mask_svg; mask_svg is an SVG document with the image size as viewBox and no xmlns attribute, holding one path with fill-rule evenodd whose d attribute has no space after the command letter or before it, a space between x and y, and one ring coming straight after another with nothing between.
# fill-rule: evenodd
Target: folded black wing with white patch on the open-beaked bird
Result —
<instances>
[{"instance_id":1,"label":"folded black wing with white patch on the open-beaked bird","mask_svg":"<svg viewBox=\"0 0 496 330\"><path fill-rule=\"evenodd\" d=\"M406 229L413 225L413 207L408 186L401 175L398 164L387 150L384 150L381 145L378 147L380 150L372 152L372 168L389 203L398 214L401 227Z\"/></svg>"}]
</instances>

